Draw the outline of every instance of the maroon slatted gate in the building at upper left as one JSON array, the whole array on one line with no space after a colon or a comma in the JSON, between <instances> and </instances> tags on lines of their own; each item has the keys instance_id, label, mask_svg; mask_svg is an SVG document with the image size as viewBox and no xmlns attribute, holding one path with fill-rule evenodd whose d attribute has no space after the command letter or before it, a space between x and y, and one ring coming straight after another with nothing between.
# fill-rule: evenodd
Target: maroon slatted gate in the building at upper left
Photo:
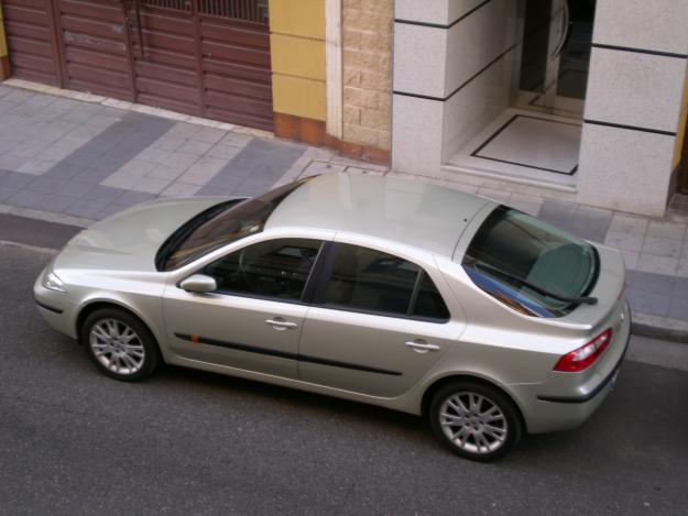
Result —
<instances>
[{"instance_id":1,"label":"maroon slatted gate in the building at upper left","mask_svg":"<svg viewBox=\"0 0 688 516\"><path fill-rule=\"evenodd\" d=\"M272 130L266 0L2 1L19 77Z\"/></svg>"}]
</instances>

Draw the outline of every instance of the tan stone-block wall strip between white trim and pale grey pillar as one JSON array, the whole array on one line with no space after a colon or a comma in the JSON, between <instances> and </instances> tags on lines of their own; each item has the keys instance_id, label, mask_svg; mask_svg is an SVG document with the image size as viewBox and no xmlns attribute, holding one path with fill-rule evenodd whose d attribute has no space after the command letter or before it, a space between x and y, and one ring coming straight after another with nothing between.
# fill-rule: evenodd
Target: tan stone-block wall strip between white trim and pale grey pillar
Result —
<instances>
[{"instance_id":1,"label":"tan stone-block wall strip between white trim and pale grey pillar","mask_svg":"<svg viewBox=\"0 0 688 516\"><path fill-rule=\"evenodd\" d=\"M390 150L392 0L342 0L343 140Z\"/></svg>"}]
</instances>

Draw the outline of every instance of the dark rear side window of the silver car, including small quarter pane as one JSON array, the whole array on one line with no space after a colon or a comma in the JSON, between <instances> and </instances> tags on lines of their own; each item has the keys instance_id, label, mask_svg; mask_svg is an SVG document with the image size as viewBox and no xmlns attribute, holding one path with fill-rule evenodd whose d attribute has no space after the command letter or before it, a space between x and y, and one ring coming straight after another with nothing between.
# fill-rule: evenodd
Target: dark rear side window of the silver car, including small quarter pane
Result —
<instances>
[{"instance_id":1,"label":"dark rear side window of the silver car, including small quarter pane","mask_svg":"<svg viewBox=\"0 0 688 516\"><path fill-rule=\"evenodd\" d=\"M339 244L323 300L353 310L443 320L449 317L435 285L418 265L350 244Z\"/></svg>"}]
</instances>

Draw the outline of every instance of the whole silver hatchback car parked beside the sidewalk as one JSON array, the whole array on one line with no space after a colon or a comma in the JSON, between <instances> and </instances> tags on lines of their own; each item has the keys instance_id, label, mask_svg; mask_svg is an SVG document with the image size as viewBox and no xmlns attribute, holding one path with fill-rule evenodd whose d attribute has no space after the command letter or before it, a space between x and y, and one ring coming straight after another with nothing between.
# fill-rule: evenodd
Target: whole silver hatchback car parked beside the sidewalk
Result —
<instances>
[{"instance_id":1,"label":"whole silver hatchback car parked beside the sidewalk","mask_svg":"<svg viewBox=\"0 0 688 516\"><path fill-rule=\"evenodd\" d=\"M473 460L585 421L631 326L618 251L354 175L135 206L75 237L34 294L111 377L164 362L426 415Z\"/></svg>"}]
</instances>

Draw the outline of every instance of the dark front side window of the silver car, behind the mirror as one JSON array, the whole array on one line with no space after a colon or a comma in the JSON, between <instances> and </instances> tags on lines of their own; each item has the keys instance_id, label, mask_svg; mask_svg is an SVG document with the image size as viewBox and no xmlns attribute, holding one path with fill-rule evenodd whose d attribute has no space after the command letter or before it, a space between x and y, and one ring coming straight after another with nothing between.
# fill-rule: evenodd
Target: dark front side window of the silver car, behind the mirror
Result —
<instances>
[{"instance_id":1,"label":"dark front side window of the silver car, behind the mirror","mask_svg":"<svg viewBox=\"0 0 688 516\"><path fill-rule=\"evenodd\" d=\"M321 242L276 239L259 242L207 265L218 292L299 300Z\"/></svg>"}]
</instances>

